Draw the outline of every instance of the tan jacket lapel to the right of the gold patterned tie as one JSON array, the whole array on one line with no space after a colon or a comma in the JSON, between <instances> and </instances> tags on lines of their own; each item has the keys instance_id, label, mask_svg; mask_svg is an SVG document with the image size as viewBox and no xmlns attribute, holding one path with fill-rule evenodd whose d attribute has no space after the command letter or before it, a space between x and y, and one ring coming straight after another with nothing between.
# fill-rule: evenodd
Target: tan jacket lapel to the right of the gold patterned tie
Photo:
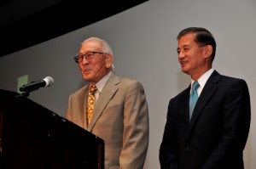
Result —
<instances>
[{"instance_id":1,"label":"tan jacket lapel to the right of the gold patterned tie","mask_svg":"<svg viewBox=\"0 0 256 169\"><path fill-rule=\"evenodd\" d=\"M95 110L92 115L92 119L88 126L88 131L91 131L92 127L96 124L98 118L102 115L102 111L107 106L110 99L113 98L113 95L119 89L116 85L119 83L119 77L116 76L114 73L109 77L108 82L102 89L102 93L100 94L99 99L96 102Z\"/></svg>"}]
</instances>

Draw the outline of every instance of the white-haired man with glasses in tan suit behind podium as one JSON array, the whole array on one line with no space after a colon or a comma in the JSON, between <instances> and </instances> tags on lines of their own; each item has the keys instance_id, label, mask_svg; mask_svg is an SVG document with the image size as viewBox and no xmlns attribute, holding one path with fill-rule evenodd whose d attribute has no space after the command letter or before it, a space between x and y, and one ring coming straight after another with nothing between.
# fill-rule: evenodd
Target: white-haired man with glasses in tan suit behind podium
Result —
<instances>
[{"instance_id":1,"label":"white-haired man with glasses in tan suit behind podium","mask_svg":"<svg viewBox=\"0 0 256 169\"><path fill-rule=\"evenodd\" d=\"M75 61L88 82L68 100L67 119L104 140L105 169L143 169L148 150L148 104L143 85L113 72L108 42L90 37ZM89 88L96 85L91 117L86 110Z\"/></svg>"}]
</instances>

